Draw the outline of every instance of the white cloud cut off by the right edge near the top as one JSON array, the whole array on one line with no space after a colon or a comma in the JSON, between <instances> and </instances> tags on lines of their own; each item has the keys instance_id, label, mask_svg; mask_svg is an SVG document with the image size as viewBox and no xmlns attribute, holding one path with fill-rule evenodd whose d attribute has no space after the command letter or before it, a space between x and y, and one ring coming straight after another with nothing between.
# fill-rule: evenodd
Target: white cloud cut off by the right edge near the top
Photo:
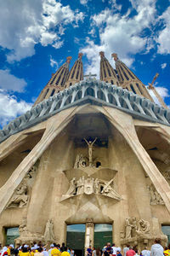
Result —
<instances>
[{"instance_id":1,"label":"white cloud cut off by the right edge near the top","mask_svg":"<svg viewBox=\"0 0 170 256\"><path fill-rule=\"evenodd\" d=\"M170 53L170 7L161 15L160 20L163 21L163 29L159 32L156 42L158 43L158 53Z\"/></svg>"}]
</instances>

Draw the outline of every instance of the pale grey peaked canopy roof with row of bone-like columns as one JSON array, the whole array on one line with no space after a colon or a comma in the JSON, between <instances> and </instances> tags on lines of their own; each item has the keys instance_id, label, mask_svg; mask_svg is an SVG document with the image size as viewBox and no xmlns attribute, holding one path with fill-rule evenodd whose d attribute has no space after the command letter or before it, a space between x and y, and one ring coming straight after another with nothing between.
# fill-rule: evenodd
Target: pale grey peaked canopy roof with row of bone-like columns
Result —
<instances>
[{"instance_id":1,"label":"pale grey peaked canopy roof with row of bone-like columns","mask_svg":"<svg viewBox=\"0 0 170 256\"><path fill-rule=\"evenodd\" d=\"M170 110L116 85L89 78L38 103L31 110L5 125L0 131L0 143L11 135L37 125L65 108L88 102L120 109L135 119L170 125Z\"/></svg>"}]
</instances>

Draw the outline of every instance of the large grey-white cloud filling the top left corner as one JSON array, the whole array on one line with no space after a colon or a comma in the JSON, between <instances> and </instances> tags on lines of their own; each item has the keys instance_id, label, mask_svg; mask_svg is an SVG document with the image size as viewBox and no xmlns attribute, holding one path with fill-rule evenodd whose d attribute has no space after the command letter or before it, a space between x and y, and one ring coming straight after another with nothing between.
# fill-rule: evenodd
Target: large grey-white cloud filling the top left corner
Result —
<instances>
[{"instance_id":1,"label":"large grey-white cloud filling the top left corner","mask_svg":"<svg viewBox=\"0 0 170 256\"><path fill-rule=\"evenodd\" d=\"M77 26L84 15L55 0L1 1L0 45L8 49L7 60L20 61L34 55L35 44L62 46L60 36L67 24Z\"/></svg>"}]
</instances>

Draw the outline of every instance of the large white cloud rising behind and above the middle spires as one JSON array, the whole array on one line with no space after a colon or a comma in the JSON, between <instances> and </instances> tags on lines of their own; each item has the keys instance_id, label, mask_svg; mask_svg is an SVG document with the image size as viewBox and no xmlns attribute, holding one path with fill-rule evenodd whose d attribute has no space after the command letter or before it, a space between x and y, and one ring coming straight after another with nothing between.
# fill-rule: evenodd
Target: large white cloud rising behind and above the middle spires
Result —
<instances>
[{"instance_id":1,"label":"large white cloud rising behind and above the middle spires","mask_svg":"<svg viewBox=\"0 0 170 256\"><path fill-rule=\"evenodd\" d=\"M81 51L87 55L89 64L87 72L99 72L99 51L105 51L105 56L111 61L111 53L116 52L119 58L130 67L133 63L132 55L145 50L149 51L152 47L152 40L144 36L144 29L150 29L155 20L156 7L155 0L131 1L137 15L120 15L111 9L105 9L99 15L91 17L92 23L90 31L95 27L99 29L99 44L94 44L87 38L87 46ZM116 4L116 1L112 0ZM113 64L113 61L111 61ZM90 67L91 66L91 67Z\"/></svg>"}]
</instances>

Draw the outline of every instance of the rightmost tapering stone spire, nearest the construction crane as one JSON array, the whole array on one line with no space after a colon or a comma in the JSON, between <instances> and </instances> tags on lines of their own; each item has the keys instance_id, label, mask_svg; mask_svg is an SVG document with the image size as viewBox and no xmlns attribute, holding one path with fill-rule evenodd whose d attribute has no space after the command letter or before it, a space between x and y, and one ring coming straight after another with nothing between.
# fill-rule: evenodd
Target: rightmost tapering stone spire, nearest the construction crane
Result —
<instances>
[{"instance_id":1,"label":"rightmost tapering stone spire, nearest the construction crane","mask_svg":"<svg viewBox=\"0 0 170 256\"><path fill-rule=\"evenodd\" d=\"M122 62L118 59L116 53L111 55L116 63L116 72L118 75L119 83L122 88L132 90L133 93L142 95L153 102L150 93L146 89L145 85L137 78L137 76Z\"/></svg>"}]
</instances>

